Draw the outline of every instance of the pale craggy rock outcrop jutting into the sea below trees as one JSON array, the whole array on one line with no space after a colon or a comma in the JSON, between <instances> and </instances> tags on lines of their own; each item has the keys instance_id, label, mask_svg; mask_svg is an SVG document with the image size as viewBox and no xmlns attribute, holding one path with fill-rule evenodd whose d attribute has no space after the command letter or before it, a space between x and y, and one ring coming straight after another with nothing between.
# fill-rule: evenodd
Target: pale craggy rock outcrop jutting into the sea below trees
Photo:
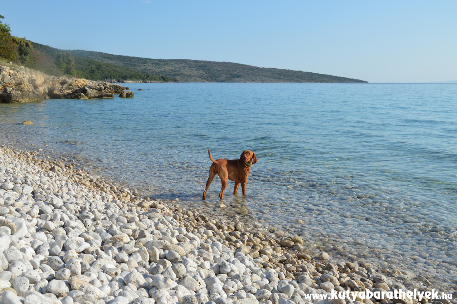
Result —
<instances>
[{"instance_id":1,"label":"pale craggy rock outcrop jutting into the sea below trees","mask_svg":"<svg viewBox=\"0 0 457 304\"><path fill-rule=\"evenodd\" d=\"M55 77L24 67L0 65L0 102L28 102L48 98L113 98L128 88L103 81Z\"/></svg>"}]
</instances>

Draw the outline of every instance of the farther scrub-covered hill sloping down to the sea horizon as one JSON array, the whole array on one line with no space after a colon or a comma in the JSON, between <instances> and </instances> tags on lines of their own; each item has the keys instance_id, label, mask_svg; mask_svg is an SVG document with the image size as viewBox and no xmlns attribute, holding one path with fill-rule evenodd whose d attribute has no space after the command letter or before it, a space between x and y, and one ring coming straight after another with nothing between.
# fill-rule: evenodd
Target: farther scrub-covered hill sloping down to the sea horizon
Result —
<instances>
[{"instance_id":1,"label":"farther scrub-covered hill sloping down to the sea horizon","mask_svg":"<svg viewBox=\"0 0 457 304\"><path fill-rule=\"evenodd\" d=\"M180 82L331 82L367 83L364 80L289 69L259 68L247 64L190 59L148 59L84 50L76 56L115 64L138 72L173 77Z\"/></svg>"}]
</instances>

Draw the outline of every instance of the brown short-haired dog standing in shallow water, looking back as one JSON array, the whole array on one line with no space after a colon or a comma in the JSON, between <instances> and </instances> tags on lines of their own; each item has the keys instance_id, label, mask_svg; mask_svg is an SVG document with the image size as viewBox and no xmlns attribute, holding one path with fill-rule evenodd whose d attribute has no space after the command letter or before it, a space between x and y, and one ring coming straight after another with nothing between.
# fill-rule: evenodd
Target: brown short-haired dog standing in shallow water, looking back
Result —
<instances>
[{"instance_id":1,"label":"brown short-haired dog standing in shallow water, looking back","mask_svg":"<svg viewBox=\"0 0 457 304\"><path fill-rule=\"evenodd\" d=\"M239 184L241 183L241 190L243 195L246 195L246 182L248 181L249 169L251 165L257 162L254 152L250 150L243 151L239 156L239 160L227 160L225 158L218 158L213 160L211 153L208 150L209 159L213 161L213 164L209 168L209 176L206 181L205 192L203 192L203 200L206 198L206 192L213 181L216 174L219 176L222 182L221 192L219 197L222 199L225 188L227 188L228 180L235 182L235 188L233 194L238 191Z\"/></svg>"}]
</instances>

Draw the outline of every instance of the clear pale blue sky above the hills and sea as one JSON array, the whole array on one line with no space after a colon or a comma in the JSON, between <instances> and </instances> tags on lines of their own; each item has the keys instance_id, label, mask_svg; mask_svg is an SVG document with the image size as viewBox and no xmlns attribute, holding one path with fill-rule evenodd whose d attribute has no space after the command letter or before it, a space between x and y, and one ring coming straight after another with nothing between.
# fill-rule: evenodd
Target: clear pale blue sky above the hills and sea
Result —
<instances>
[{"instance_id":1,"label":"clear pale blue sky above the hills and sea","mask_svg":"<svg viewBox=\"0 0 457 304\"><path fill-rule=\"evenodd\" d=\"M457 80L457 1L0 1L60 49L228 61L369 82Z\"/></svg>"}]
</instances>

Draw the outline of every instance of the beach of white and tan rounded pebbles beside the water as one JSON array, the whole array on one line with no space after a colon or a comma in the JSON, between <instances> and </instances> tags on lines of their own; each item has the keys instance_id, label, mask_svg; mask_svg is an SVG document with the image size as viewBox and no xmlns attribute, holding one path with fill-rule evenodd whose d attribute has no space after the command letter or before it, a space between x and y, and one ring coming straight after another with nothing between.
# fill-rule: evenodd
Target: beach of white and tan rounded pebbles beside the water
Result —
<instances>
[{"instance_id":1,"label":"beach of white and tan rounded pebbles beside the water","mask_svg":"<svg viewBox=\"0 0 457 304\"><path fill-rule=\"evenodd\" d=\"M140 197L39 151L3 146L0 185L2 304L457 303L451 286L313 255L298 236ZM400 289L452 299L330 299Z\"/></svg>"}]
</instances>

